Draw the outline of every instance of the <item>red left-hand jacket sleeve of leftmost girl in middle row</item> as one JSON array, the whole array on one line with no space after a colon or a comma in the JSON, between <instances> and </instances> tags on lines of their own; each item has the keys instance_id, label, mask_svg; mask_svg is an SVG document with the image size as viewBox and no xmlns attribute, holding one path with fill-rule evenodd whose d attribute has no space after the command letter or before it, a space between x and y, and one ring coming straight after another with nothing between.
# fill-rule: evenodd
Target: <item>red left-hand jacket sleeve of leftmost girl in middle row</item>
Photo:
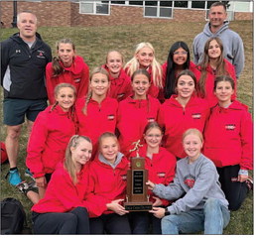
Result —
<instances>
[{"instance_id":1,"label":"red left-hand jacket sleeve of leftmost girl in middle row","mask_svg":"<svg viewBox=\"0 0 256 238\"><path fill-rule=\"evenodd\" d=\"M27 149L26 165L31 170L34 178L44 177L44 165L42 153L44 152L48 138L48 122L43 113L39 113L30 135Z\"/></svg>"}]
</instances>

